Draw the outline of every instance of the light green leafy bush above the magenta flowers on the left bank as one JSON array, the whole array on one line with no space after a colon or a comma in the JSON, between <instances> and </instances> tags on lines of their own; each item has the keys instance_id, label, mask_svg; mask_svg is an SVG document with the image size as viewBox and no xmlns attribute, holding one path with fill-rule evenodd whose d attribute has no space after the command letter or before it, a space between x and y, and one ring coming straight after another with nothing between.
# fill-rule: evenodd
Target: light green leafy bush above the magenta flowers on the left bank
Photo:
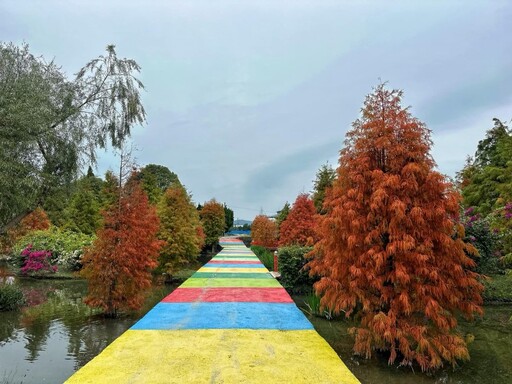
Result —
<instances>
[{"instance_id":1,"label":"light green leafy bush above the magenta flowers on the left bank","mask_svg":"<svg viewBox=\"0 0 512 384\"><path fill-rule=\"evenodd\" d=\"M52 227L45 231L34 231L23 236L16 242L13 252L15 261L18 266L21 266L21 252L32 244L34 250L50 251L52 253L52 264L77 271L82 267L80 260L84 248L90 246L93 241L93 235Z\"/></svg>"}]
</instances>

